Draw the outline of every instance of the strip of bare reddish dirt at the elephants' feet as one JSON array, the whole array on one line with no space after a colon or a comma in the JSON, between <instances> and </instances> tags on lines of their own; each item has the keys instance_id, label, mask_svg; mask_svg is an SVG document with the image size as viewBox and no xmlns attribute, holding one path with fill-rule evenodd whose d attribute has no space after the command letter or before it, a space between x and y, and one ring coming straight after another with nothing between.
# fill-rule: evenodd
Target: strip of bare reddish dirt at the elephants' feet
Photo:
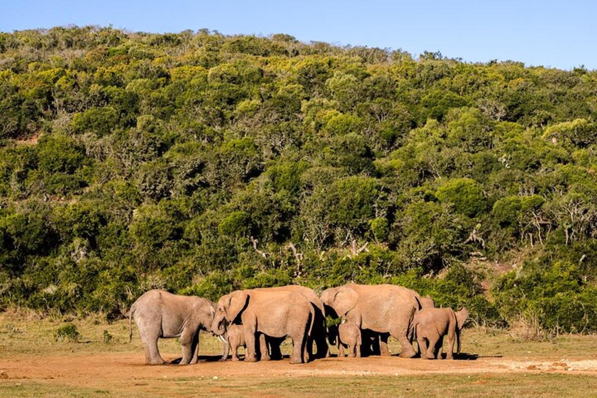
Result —
<instances>
[{"instance_id":1,"label":"strip of bare reddish dirt at the elephants' feet","mask_svg":"<svg viewBox=\"0 0 597 398\"><path fill-rule=\"evenodd\" d=\"M166 356L171 358L171 356ZM147 366L135 353L72 354L63 356L14 356L0 359L0 377L93 387L106 382L127 383L186 377L303 377L412 374L503 374L509 372L558 372L597 375L597 360L546 362L481 357L474 360L421 360L398 357L328 358L303 365L282 361L244 363L202 360L198 365Z\"/></svg>"}]
</instances>

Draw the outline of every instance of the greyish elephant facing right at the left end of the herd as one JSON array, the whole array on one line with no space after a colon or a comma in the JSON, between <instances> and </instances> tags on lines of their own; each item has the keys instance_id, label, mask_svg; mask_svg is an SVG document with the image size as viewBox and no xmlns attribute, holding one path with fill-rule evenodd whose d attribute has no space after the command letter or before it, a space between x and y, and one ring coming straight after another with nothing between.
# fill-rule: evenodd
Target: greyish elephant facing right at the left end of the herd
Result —
<instances>
[{"instance_id":1,"label":"greyish elephant facing right at the left end of the herd","mask_svg":"<svg viewBox=\"0 0 597 398\"><path fill-rule=\"evenodd\" d=\"M150 290L141 295L128 312L129 338L133 340L134 319L147 364L165 363L158 350L158 338L161 337L180 337L183 351L180 364L196 363L199 330L211 331L214 313L214 304L205 298Z\"/></svg>"}]
</instances>

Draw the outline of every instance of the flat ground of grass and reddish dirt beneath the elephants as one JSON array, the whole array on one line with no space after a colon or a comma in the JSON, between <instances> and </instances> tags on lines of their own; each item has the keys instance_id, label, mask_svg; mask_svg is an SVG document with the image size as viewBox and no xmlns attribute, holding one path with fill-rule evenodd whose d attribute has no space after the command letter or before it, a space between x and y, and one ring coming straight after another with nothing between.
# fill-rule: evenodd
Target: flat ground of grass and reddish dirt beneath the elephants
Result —
<instances>
[{"instance_id":1,"label":"flat ground of grass and reddish dirt beneath the elephants","mask_svg":"<svg viewBox=\"0 0 597 398\"><path fill-rule=\"evenodd\" d=\"M55 340L67 322L81 334L78 342ZM215 362L221 344L205 334L198 365L145 366L137 331L128 343L125 320L9 311L0 314L0 397L597 397L596 343L593 335L529 342L507 331L467 329L463 360L290 365ZM390 348L398 351L395 342ZM176 340L161 341L160 350L167 360L180 356Z\"/></svg>"}]
</instances>

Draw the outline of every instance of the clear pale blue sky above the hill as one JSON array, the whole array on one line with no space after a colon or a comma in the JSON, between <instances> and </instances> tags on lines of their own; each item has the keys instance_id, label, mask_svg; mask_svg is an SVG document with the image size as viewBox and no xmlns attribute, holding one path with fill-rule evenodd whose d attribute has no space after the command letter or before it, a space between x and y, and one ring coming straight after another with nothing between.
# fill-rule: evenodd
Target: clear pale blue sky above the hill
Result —
<instances>
[{"instance_id":1,"label":"clear pale blue sky above the hill","mask_svg":"<svg viewBox=\"0 0 597 398\"><path fill-rule=\"evenodd\" d=\"M466 61L597 69L597 1L2 0L0 30L99 24L145 32L208 28L301 41L441 51Z\"/></svg>"}]
</instances>

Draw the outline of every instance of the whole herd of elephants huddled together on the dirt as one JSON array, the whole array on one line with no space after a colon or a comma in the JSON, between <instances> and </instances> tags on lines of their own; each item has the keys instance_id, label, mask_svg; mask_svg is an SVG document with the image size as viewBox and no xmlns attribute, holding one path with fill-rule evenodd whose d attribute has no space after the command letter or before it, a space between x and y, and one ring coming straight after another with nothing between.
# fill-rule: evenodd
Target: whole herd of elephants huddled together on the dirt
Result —
<instances>
[{"instance_id":1,"label":"whole herd of elephants huddled together on the dirt","mask_svg":"<svg viewBox=\"0 0 597 398\"><path fill-rule=\"evenodd\" d=\"M196 296L151 290L141 295L128 313L130 338L132 321L139 329L146 363L158 365L164 359L158 351L159 338L179 337L181 364L196 363L199 331L217 335L223 341L222 360L232 349L245 347L245 362L281 359L280 345L290 338L290 363L304 363L330 356L328 343L344 347L349 356L389 355L391 336L401 345L400 357L416 356L416 338L423 359L441 357L444 337L446 357L453 358L454 342L460 352L460 329L466 309L435 308L429 297L395 285L348 283L326 289L321 296L313 289L289 285L233 291L212 303ZM336 319L327 325L326 317ZM315 350L313 350L315 348Z\"/></svg>"}]
</instances>

